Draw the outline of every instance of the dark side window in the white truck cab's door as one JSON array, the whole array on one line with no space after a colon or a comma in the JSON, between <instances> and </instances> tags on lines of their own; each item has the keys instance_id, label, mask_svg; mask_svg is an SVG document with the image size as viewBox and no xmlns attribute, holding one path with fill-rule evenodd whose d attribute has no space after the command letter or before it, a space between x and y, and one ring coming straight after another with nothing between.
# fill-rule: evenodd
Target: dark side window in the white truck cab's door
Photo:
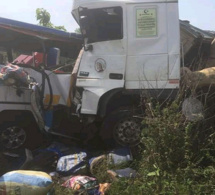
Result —
<instances>
[{"instance_id":1,"label":"dark side window in the white truck cab's door","mask_svg":"<svg viewBox=\"0 0 215 195\"><path fill-rule=\"evenodd\" d=\"M81 31L88 43L122 39L122 22L121 7L87 9L80 15Z\"/></svg>"}]
</instances>

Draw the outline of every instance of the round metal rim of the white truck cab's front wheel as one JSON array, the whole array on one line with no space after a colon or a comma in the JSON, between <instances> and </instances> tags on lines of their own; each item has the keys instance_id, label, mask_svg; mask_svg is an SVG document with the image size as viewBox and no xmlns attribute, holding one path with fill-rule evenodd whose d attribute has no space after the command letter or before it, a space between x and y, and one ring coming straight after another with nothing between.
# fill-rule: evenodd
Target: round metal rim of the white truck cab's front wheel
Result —
<instances>
[{"instance_id":1,"label":"round metal rim of the white truck cab's front wheel","mask_svg":"<svg viewBox=\"0 0 215 195\"><path fill-rule=\"evenodd\" d=\"M115 126L113 135L120 145L137 145L140 142L141 123L135 118L124 119Z\"/></svg>"}]
</instances>

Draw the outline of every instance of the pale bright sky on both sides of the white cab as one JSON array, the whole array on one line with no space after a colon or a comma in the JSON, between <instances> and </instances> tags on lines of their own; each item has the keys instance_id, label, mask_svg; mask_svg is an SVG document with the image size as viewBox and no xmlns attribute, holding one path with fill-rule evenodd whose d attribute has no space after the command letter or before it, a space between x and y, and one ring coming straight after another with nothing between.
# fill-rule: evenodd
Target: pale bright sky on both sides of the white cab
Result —
<instances>
[{"instance_id":1,"label":"pale bright sky on both sides of the white cab","mask_svg":"<svg viewBox=\"0 0 215 195\"><path fill-rule=\"evenodd\" d=\"M73 32L78 25L71 15L73 0L1 0L0 17L32 24L36 21L36 9L44 8L51 14L55 26L65 26ZM203 30L215 30L215 0L179 0L180 19Z\"/></svg>"}]
</instances>

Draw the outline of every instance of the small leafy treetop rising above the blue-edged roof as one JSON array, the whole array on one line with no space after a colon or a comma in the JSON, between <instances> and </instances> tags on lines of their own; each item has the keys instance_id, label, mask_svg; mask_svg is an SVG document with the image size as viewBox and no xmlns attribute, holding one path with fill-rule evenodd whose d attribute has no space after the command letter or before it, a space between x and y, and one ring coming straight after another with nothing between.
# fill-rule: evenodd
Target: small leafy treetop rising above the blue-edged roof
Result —
<instances>
[{"instance_id":1,"label":"small leafy treetop rising above the blue-edged roof","mask_svg":"<svg viewBox=\"0 0 215 195\"><path fill-rule=\"evenodd\" d=\"M50 13L43 8L37 8L36 9L36 18L37 18L37 20L39 20L39 25L41 25L41 26L66 31L64 26L54 26L51 23Z\"/></svg>"}]
</instances>

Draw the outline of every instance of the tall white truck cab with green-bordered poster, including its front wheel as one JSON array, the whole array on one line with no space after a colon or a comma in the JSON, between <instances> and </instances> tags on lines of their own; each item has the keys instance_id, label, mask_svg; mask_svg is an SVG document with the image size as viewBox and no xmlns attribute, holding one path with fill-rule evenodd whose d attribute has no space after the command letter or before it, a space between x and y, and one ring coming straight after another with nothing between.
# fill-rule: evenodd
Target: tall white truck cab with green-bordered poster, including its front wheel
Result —
<instances>
[{"instance_id":1,"label":"tall white truck cab with green-bordered poster, including its front wheel","mask_svg":"<svg viewBox=\"0 0 215 195\"><path fill-rule=\"evenodd\" d=\"M114 125L104 122L105 131L117 128L119 142L135 143L136 123L123 122L122 109L137 107L141 96L165 99L179 88L178 1L76 0L72 14L84 38L76 81L81 114L107 120L115 113L121 124L109 119Z\"/></svg>"}]
</instances>

